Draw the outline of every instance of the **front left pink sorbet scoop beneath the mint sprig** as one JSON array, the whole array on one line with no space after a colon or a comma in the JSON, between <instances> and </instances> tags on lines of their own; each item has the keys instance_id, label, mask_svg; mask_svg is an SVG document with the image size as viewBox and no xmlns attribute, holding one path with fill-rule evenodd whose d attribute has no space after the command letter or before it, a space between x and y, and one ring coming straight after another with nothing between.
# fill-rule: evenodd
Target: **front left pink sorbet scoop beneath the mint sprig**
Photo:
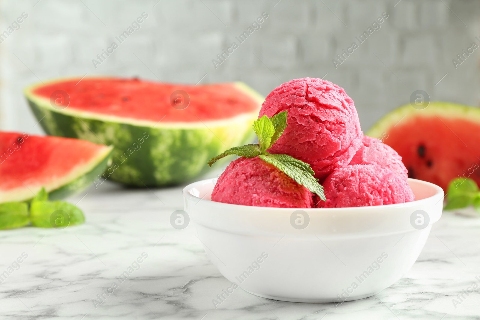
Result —
<instances>
[{"instance_id":1,"label":"front left pink sorbet scoop beneath the mint sprig","mask_svg":"<svg viewBox=\"0 0 480 320\"><path fill-rule=\"evenodd\" d=\"M259 157L232 161L212 192L217 202L276 208L312 208L312 192Z\"/></svg>"}]
</instances>

